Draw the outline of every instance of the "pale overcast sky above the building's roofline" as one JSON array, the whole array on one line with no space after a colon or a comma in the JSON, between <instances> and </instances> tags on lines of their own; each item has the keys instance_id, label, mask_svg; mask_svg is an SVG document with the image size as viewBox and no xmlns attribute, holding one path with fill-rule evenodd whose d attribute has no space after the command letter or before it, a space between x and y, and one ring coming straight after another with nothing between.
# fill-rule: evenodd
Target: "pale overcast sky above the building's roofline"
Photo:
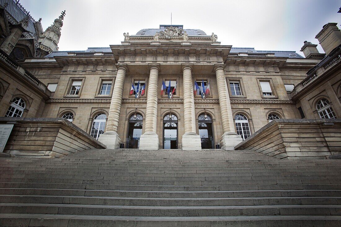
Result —
<instances>
[{"instance_id":1,"label":"pale overcast sky above the building's roofline","mask_svg":"<svg viewBox=\"0 0 341 227\"><path fill-rule=\"evenodd\" d=\"M31 16L42 18L43 29L66 10L59 50L109 47L123 33L183 25L218 35L222 45L256 50L294 50L303 41L318 44L315 35L328 22L339 24L341 0L20 0ZM324 52L318 45L320 52Z\"/></svg>"}]
</instances>

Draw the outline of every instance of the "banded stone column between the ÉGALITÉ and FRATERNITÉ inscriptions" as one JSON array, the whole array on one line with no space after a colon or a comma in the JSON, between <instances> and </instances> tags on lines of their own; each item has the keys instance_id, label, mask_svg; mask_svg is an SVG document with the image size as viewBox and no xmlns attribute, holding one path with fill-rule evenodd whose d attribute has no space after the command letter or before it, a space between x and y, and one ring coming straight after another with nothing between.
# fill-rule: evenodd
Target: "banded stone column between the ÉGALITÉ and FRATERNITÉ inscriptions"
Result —
<instances>
[{"instance_id":1,"label":"banded stone column between the \u00c9GALIT\u00c9 and FRATERNIT\u00c9 inscriptions","mask_svg":"<svg viewBox=\"0 0 341 227\"><path fill-rule=\"evenodd\" d=\"M192 66L185 65L183 71L183 116L184 134L182 136L182 150L201 150L201 139L196 134L195 109L192 81Z\"/></svg>"}]
</instances>

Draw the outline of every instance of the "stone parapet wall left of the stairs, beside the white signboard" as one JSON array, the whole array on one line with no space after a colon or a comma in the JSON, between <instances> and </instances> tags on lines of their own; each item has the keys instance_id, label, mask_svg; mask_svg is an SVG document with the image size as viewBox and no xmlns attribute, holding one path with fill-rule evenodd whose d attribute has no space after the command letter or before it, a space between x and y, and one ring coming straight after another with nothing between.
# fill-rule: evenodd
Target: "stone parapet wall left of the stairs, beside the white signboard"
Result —
<instances>
[{"instance_id":1,"label":"stone parapet wall left of the stairs, beside the white signboard","mask_svg":"<svg viewBox=\"0 0 341 227\"><path fill-rule=\"evenodd\" d=\"M106 148L98 140L61 118L0 118L14 124L4 152L27 157L63 157L78 151Z\"/></svg>"}]
</instances>

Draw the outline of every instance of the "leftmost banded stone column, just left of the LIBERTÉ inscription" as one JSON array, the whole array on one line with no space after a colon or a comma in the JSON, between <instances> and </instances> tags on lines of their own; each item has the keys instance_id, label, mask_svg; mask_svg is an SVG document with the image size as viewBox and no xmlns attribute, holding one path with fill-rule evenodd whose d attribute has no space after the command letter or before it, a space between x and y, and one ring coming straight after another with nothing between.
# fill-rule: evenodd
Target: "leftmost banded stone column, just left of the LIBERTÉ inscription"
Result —
<instances>
[{"instance_id":1,"label":"leftmost banded stone column, just left of the LIBERT\u00c9 inscription","mask_svg":"<svg viewBox=\"0 0 341 227\"><path fill-rule=\"evenodd\" d=\"M117 149L121 143L121 138L118 135L117 130L121 113L124 79L127 70L128 68L125 65L117 66L117 75L115 78L113 95L110 102L106 130L105 133L100 135L98 138L100 142L106 145L107 149Z\"/></svg>"}]
</instances>

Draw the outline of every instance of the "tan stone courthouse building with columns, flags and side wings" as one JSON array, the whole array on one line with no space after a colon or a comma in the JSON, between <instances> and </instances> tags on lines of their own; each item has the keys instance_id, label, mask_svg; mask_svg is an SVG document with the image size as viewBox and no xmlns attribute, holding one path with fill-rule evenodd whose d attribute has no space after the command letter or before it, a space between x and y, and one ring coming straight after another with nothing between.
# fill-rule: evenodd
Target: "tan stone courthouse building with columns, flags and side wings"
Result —
<instances>
[{"instance_id":1,"label":"tan stone courthouse building with columns, flags and side wings","mask_svg":"<svg viewBox=\"0 0 341 227\"><path fill-rule=\"evenodd\" d=\"M124 33L121 45L52 51L64 15L37 37L40 54L20 62L21 77L1 76L1 116L19 97L23 117L66 118L107 148L152 150L234 149L275 119L341 117L341 32L334 23L316 36L326 54L306 41L305 57L221 45L214 33L182 25ZM49 46L44 57L41 45ZM23 78L40 88L32 92Z\"/></svg>"}]
</instances>

